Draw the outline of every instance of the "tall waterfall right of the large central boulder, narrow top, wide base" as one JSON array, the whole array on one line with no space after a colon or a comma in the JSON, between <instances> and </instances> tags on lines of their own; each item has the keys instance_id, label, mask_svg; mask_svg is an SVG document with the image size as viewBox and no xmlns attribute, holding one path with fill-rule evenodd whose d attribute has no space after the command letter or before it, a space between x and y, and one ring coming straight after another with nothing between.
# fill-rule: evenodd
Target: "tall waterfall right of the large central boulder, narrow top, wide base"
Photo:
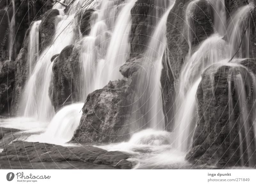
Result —
<instances>
[{"instance_id":1,"label":"tall waterfall right of the large central boulder, narrow top, wide base","mask_svg":"<svg viewBox=\"0 0 256 185\"><path fill-rule=\"evenodd\" d=\"M160 19L148 43L148 49L143 55L145 63L141 67L136 82L137 94L140 97L139 105L135 104L132 107L132 114L135 115L136 119L136 122L132 125L132 131L144 126L157 130L163 130L165 127L160 78L166 48L166 21L171 9L172 5L168 7L168 10Z\"/></svg>"}]
</instances>

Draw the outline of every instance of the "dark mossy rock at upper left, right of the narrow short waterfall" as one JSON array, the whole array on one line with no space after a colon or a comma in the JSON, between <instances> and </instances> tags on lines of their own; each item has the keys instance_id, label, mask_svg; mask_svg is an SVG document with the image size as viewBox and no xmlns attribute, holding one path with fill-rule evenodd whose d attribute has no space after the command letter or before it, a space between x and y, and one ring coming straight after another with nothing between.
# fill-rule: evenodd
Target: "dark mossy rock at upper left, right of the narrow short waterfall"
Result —
<instances>
[{"instance_id":1,"label":"dark mossy rock at upper left, right of the narrow short waterfall","mask_svg":"<svg viewBox=\"0 0 256 185\"><path fill-rule=\"evenodd\" d=\"M42 23L39 28L41 51L51 44L54 33L55 25L58 21L59 10L48 10L42 16Z\"/></svg>"}]
</instances>

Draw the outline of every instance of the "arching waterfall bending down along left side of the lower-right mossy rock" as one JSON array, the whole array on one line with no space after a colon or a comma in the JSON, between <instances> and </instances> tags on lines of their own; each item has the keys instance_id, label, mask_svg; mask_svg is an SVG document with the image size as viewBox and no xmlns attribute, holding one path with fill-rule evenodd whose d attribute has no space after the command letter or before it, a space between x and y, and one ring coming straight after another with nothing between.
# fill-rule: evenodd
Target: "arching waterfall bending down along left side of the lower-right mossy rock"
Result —
<instances>
[{"instance_id":1,"label":"arching waterfall bending down along left side of the lower-right mossy rock","mask_svg":"<svg viewBox=\"0 0 256 185\"><path fill-rule=\"evenodd\" d=\"M196 112L196 92L201 81L201 74L212 64L226 58L223 53L228 54L226 41L217 34L213 34L201 44L181 70L175 105L175 132L177 133L175 147L183 152L187 151L192 144L196 119L191 118ZM224 62L227 61L222 61Z\"/></svg>"}]
</instances>

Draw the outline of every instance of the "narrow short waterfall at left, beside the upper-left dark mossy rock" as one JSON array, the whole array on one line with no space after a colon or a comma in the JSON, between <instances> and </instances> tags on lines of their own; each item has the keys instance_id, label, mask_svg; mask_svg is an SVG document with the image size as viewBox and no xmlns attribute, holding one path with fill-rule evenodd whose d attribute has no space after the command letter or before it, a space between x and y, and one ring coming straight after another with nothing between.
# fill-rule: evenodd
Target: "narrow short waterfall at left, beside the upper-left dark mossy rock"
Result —
<instances>
[{"instance_id":1,"label":"narrow short waterfall at left, beside the upper-left dark mossy rock","mask_svg":"<svg viewBox=\"0 0 256 185\"><path fill-rule=\"evenodd\" d=\"M35 62L37 61L39 55L39 26L41 20L38 20L33 23L29 33L29 45L28 45L28 60L29 60L29 76L35 67Z\"/></svg>"}]
</instances>

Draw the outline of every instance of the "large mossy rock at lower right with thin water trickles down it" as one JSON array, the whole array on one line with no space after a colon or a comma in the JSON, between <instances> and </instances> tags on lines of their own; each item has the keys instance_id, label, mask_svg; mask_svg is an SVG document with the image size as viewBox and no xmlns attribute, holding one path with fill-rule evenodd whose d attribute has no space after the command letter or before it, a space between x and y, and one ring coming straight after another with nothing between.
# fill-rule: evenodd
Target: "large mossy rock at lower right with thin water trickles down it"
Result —
<instances>
[{"instance_id":1,"label":"large mossy rock at lower right with thin water trickles down it","mask_svg":"<svg viewBox=\"0 0 256 185\"><path fill-rule=\"evenodd\" d=\"M208 164L218 166L239 166L241 164L239 132L245 141L241 123L246 124L241 120L243 116L242 107L239 107L237 99L236 74L248 74L248 71L243 66L249 66L249 71L255 75L255 67L250 68L250 65L255 66L256 60L250 59L242 62L242 67L222 66L213 71L213 77L210 75L212 68L204 71L202 82L197 91L197 108L198 122L193 138L193 147L187 154L186 159L194 164ZM253 64L252 64L253 63ZM214 69L214 68L213 68ZM234 70L234 73L230 71ZM230 76L232 74L232 76ZM248 75L247 75L248 76ZM230 87L228 88L228 79ZM212 80L213 79L213 80ZM252 79L244 79L245 88L250 89ZM249 83L248 83L248 81ZM249 85L250 84L250 85ZM249 94L249 90L246 91ZM231 98L230 98L231 96ZM238 95L239 96L239 95ZM247 96L247 95L246 95ZM232 101L232 102L230 102ZM232 104L233 113L230 115L229 107ZM248 109L252 109L252 104L248 103ZM249 115L249 128L252 126L252 114ZM252 129L249 135L253 135ZM253 142L253 137L248 137L249 143ZM243 142L244 147L246 144ZM249 146L255 149L251 144ZM245 147L246 148L246 147ZM243 148L244 151L246 149ZM246 153L246 152L245 152ZM254 154L253 154L254 155ZM248 158L245 156L245 164ZM255 157L253 157L255 159ZM251 161L256 164L256 161ZM254 164L254 165L255 165ZM248 164L249 165L249 162Z\"/></svg>"}]
</instances>

